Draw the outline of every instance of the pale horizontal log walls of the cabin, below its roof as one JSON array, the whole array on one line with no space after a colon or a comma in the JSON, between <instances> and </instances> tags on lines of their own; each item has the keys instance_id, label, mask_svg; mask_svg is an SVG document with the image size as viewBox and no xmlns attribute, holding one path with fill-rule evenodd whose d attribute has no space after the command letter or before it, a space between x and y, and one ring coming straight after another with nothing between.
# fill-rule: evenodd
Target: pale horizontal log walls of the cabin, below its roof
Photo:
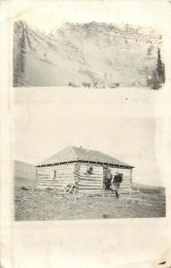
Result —
<instances>
[{"instance_id":1,"label":"pale horizontal log walls of the cabin, below its roof","mask_svg":"<svg viewBox=\"0 0 171 268\"><path fill-rule=\"evenodd\" d=\"M87 172L89 165L93 167L92 174ZM113 178L116 172L123 173L124 180L120 184L121 193L129 193L132 188L132 169L111 166L109 168ZM52 172L55 170L56 180L52 178ZM76 162L37 167L38 188L63 188L66 184L75 181L79 184L79 192L100 193L103 189L103 165L99 163Z\"/></svg>"}]
</instances>

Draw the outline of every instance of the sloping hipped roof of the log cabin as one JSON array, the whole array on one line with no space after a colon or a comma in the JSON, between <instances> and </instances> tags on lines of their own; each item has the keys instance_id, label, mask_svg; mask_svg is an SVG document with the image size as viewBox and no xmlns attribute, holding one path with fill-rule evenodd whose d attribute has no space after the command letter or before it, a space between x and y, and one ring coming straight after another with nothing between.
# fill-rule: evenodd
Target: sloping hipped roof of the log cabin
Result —
<instances>
[{"instance_id":1,"label":"sloping hipped roof of the log cabin","mask_svg":"<svg viewBox=\"0 0 171 268\"><path fill-rule=\"evenodd\" d=\"M38 163L37 166L74 161L82 161L87 163L107 163L133 168L131 164L124 163L110 155L103 154L99 151L88 150L82 147L65 147L63 150L59 151L55 155L52 155L47 159L43 160L42 162Z\"/></svg>"}]
</instances>

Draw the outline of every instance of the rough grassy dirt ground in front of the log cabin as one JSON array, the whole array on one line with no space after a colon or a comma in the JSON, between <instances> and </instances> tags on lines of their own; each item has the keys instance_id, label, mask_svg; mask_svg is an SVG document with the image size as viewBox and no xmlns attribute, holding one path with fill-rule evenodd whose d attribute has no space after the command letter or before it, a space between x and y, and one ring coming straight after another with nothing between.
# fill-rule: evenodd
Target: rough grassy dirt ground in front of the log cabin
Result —
<instances>
[{"instance_id":1,"label":"rough grassy dirt ground in front of the log cabin","mask_svg":"<svg viewBox=\"0 0 171 268\"><path fill-rule=\"evenodd\" d=\"M15 221L57 221L165 217L165 196L143 194L131 201L120 197L71 197L39 189L15 188Z\"/></svg>"}]
</instances>

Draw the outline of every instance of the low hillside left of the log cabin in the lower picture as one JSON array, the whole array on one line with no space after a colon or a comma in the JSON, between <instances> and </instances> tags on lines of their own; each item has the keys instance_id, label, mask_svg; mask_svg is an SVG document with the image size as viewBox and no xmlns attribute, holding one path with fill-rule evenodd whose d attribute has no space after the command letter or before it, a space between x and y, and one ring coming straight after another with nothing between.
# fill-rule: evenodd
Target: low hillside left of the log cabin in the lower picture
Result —
<instances>
[{"instance_id":1,"label":"low hillside left of the log cabin in the lower picture","mask_svg":"<svg viewBox=\"0 0 171 268\"><path fill-rule=\"evenodd\" d=\"M36 182L36 167L30 163L14 161L14 186L33 186Z\"/></svg>"}]
</instances>

